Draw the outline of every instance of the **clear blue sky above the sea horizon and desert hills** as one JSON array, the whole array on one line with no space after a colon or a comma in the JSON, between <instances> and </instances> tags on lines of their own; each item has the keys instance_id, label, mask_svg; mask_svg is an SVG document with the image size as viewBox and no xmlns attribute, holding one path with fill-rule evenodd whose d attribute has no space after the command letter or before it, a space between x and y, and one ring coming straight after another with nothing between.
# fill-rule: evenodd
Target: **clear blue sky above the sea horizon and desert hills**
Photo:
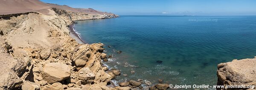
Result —
<instances>
[{"instance_id":1,"label":"clear blue sky above the sea horizon and desert hills","mask_svg":"<svg viewBox=\"0 0 256 90\"><path fill-rule=\"evenodd\" d=\"M119 15L256 15L256 0L41 0Z\"/></svg>"}]
</instances>

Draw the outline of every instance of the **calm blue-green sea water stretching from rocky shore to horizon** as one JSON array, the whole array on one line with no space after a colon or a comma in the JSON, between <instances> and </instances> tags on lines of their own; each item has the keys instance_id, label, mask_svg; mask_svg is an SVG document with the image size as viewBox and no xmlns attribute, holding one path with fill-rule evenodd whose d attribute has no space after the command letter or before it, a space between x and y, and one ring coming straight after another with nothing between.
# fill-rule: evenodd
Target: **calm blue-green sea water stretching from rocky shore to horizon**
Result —
<instances>
[{"instance_id":1,"label":"calm blue-green sea water stretching from rocky shore to horizon","mask_svg":"<svg viewBox=\"0 0 256 90\"><path fill-rule=\"evenodd\" d=\"M105 64L128 75L116 81L216 85L218 63L256 56L256 16L120 16L74 28L86 43L101 42L113 54Z\"/></svg>"}]
</instances>

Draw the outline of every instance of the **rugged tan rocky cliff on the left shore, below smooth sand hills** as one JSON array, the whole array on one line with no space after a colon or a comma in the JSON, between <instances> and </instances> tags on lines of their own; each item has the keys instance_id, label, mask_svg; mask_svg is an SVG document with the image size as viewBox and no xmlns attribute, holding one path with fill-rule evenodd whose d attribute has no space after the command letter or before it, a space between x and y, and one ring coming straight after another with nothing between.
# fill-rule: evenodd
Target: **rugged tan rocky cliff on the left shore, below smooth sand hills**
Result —
<instances>
[{"instance_id":1,"label":"rugged tan rocky cliff on the left shore, below smooth sand hills","mask_svg":"<svg viewBox=\"0 0 256 90\"><path fill-rule=\"evenodd\" d=\"M114 76L101 65L104 44L78 44L67 26L76 20L113 17L58 8L2 15L0 89L110 90L106 85Z\"/></svg>"}]
</instances>

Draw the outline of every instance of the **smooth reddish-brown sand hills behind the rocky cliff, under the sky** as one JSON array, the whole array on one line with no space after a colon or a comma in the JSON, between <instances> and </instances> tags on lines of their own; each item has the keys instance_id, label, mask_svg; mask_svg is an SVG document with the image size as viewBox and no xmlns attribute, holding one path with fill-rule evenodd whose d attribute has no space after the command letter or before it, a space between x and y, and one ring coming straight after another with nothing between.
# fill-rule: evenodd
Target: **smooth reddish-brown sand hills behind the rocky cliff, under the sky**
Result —
<instances>
[{"instance_id":1,"label":"smooth reddish-brown sand hills behind the rocky cliff, under the sky","mask_svg":"<svg viewBox=\"0 0 256 90\"><path fill-rule=\"evenodd\" d=\"M31 11L43 11L55 7L66 11L84 12L88 14L110 14L92 8L72 8L67 5L44 3L40 0L0 0L0 14L17 14Z\"/></svg>"}]
</instances>

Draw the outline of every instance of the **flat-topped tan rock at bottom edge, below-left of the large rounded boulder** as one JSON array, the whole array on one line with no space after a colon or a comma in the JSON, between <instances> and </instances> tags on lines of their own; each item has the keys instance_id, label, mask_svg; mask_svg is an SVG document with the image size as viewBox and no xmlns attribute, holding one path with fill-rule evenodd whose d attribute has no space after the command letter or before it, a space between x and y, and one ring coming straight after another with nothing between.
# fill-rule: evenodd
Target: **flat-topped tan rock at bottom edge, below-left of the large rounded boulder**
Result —
<instances>
[{"instance_id":1,"label":"flat-topped tan rock at bottom edge, below-left of the large rounded boulder","mask_svg":"<svg viewBox=\"0 0 256 90\"><path fill-rule=\"evenodd\" d=\"M23 81L22 90L40 90L40 85L35 82Z\"/></svg>"}]
</instances>

